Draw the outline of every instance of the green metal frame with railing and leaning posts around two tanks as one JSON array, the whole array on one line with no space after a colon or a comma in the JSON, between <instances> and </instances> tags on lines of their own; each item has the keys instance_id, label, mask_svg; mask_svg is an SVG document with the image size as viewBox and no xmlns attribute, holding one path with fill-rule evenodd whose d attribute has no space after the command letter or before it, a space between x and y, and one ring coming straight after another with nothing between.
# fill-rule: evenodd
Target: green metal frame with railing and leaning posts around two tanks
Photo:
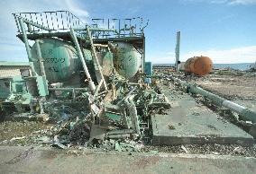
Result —
<instances>
[{"instance_id":1,"label":"green metal frame with railing and leaning posts around two tanks","mask_svg":"<svg viewBox=\"0 0 256 174\"><path fill-rule=\"evenodd\" d=\"M77 16L69 11L42 12L42 13L13 13L14 20L17 25L17 37L23 41L27 51L27 56L32 62L31 46L29 39L35 40L41 38L57 37L75 44L78 55L81 58L87 78L91 77L87 71L86 63L81 52L79 43L90 44L93 50L93 57L98 66L99 73L101 67L97 62L96 50L94 44L107 44L109 41L124 41L134 45L138 52L142 55L142 73L145 69L145 37L143 30L148 25L148 22L143 25L142 18L131 19L92 19L92 24L88 25L78 19ZM106 27L107 26L107 27ZM38 43L37 43L38 44ZM38 44L39 45L39 44ZM40 49L40 47L38 48ZM41 68L43 63L41 64ZM34 70L32 74L36 74ZM44 74L41 71L41 74ZM91 84L91 89L96 89L94 83ZM106 89L105 81L103 85Z\"/></svg>"}]
</instances>

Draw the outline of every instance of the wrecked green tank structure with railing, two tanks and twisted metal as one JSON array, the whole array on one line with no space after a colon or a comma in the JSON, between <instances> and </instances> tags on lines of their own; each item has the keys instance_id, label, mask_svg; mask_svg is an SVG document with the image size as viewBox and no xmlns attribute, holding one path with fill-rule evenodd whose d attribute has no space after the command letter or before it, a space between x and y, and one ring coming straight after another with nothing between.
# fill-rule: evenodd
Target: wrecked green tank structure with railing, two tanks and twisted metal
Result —
<instances>
[{"instance_id":1,"label":"wrecked green tank structure with railing, two tanks and twisted metal","mask_svg":"<svg viewBox=\"0 0 256 174\"><path fill-rule=\"evenodd\" d=\"M149 86L143 32L148 22L142 18L87 24L57 11L14 13L14 19L31 74L12 78L4 111L48 113L62 121L77 117L75 125L82 121L92 141L140 139L151 109L169 109L166 97Z\"/></svg>"}]
</instances>

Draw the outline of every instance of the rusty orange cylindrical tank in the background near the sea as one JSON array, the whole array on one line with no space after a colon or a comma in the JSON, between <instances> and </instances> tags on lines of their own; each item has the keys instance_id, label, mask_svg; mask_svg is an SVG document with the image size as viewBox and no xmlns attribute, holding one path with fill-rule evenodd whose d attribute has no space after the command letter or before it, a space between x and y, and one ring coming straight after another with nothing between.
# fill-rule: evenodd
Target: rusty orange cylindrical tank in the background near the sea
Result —
<instances>
[{"instance_id":1,"label":"rusty orange cylindrical tank in the background near the sea","mask_svg":"<svg viewBox=\"0 0 256 174\"><path fill-rule=\"evenodd\" d=\"M187 73L202 76L212 71L213 62L209 57L192 57L187 59L184 66Z\"/></svg>"}]
</instances>

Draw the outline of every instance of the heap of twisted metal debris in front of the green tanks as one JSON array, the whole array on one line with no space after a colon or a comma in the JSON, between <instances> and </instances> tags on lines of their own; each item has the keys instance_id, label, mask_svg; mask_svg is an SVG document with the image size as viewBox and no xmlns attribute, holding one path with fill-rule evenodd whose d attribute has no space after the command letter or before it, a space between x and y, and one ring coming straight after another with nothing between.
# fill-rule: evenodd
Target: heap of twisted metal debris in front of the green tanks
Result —
<instances>
[{"instance_id":1,"label":"heap of twisted metal debris in front of the green tanks","mask_svg":"<svg viewBox=\"0 0 256 174\"><path fill-rule=\"evenodd\" d=\"M52 126L29 137L21 136L22 139L62 149L83 146L140 151L142 139L149 139L151 114L165 114L165 110L170 109L169 100L157 87L143 83L142 79L131 83L114 72L108 82L109 91L99 90L94 94L79 91L75 101L69 91L52 91L50 99L43 103L44 116L48 117L41 119Z\"/></svg>"}]
</instances>

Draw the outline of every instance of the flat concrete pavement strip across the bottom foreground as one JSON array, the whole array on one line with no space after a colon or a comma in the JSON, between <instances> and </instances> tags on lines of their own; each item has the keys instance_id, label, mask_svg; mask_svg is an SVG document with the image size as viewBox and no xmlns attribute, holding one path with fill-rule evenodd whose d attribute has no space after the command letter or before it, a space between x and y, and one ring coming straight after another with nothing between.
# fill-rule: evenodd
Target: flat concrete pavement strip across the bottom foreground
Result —
<instances>
[{"instance_id":1,"label":"flat concrete pavement strip across the bottom foreground","mask_svg":"<svg viewBox=\"0 0 256 174\"><path fill-rule=\"evenodd\" d=\"M249 157L0 146L0 173L256 173Z\"/></svg>"}]
</instances>

